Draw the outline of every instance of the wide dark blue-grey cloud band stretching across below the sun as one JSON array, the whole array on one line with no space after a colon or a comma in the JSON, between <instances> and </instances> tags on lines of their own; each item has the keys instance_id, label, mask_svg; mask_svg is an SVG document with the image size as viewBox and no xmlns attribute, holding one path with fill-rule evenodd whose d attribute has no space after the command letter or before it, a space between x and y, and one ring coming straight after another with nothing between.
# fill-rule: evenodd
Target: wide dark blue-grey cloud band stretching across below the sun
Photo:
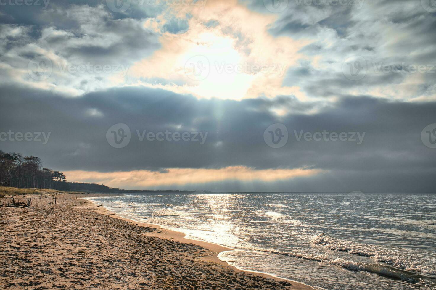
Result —
<instances>
[{"instance_id":1,"label":"wide dark blue-grey cloud band stretching across below the sun","mask_svg":"<svg viewBox=\"0 0 436 290\"><path fill-rule=\"evenodd\" d=\"M398 184L406 184L405 180L409 181L407 190L412 184L416 186L412 191L435 189L430 177L436 174L436 155L421 141L422 129L435 123L435 102L343 97L334 107L317 113L279 117L271 113L272 108L302 105L280 97L239 102L198 100L142 87L62 98L3 86L0 100L0 132L51 132L46 145L2 141L1 150L35 154L45 160L45 166L64 171L160 171L235 165L256 169L308 167L325 172L310 179L307 188L313 186L315 190L317 186L317 191L327 190L320 189L323 186L330 190L371 191L379 186L381 190L402 191ZM106 140L107 130L116 123L127 124L132 133L124 148L113 148ZM267 146L263 138L265 129L274 123L283 123L289 131L288 143L278 149ZM208 136L203 145L191 141L140 141L136 130L208 132ZM365 135L360 145L352 141L297 141L293 130ZM307 182L297 178L274 186L277 190L290 185L295 190L308 190L303 187ZM229 184L232 182L221 184L221 190L230 189Z\"/></svg>"}]
</instances>

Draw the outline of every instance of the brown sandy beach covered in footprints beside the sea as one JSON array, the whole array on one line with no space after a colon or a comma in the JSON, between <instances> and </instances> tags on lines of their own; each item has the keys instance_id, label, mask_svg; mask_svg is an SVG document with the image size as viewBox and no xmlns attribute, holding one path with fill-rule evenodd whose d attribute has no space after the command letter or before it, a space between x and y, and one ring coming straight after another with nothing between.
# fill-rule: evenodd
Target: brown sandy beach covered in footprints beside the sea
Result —
<instances>
[{"instance_id":1,"label":"brown sandy beach covered in footprints beside the sea","mask_svg":"<svg viewBox=\"0 0 436 290\"><path fill-rule=\"evenodd\" d=\"M1 289L312 289L237 270L216 257L228 248L75 196L58 194L55 205L34 195L30 208L0 207Z\"/></svg>"}]
</instances>

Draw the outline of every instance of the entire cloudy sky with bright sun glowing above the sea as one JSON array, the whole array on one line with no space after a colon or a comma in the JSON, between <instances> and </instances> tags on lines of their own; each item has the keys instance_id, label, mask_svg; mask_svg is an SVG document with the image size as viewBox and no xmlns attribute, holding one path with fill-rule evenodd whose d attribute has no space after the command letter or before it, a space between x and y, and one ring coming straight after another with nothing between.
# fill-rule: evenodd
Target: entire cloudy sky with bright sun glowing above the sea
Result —
<instances>
[{"instance_id":1,"label":"entire cloudy sky with bright sun glowing above the sea","mask_svg":"<svg viewBox=\"0 0 436 290\"><path fill-rule=\"evenodd\" d=\"M436 192L434 0L0 6L0 150L68 181Z\"/></svg>"}]
</instances>

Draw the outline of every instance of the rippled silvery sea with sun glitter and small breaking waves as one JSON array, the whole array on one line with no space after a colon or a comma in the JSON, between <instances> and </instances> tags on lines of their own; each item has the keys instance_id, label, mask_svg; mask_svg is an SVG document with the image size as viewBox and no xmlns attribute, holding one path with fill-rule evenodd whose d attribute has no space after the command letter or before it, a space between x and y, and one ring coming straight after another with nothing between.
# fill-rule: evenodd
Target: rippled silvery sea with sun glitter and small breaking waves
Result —
<instances>
[{"instance_id":1,"label":"rippled silvery sea with sun glitter and small breaking waves","mask_svg":"<svg viewBox=\"0 0 436 290\"><path fill-rule=\"evenodd\" d=\"M127 194L124 217L235 251L233 266L325 289L436 289L436 195Z\"/></svg>"}]
</instances>

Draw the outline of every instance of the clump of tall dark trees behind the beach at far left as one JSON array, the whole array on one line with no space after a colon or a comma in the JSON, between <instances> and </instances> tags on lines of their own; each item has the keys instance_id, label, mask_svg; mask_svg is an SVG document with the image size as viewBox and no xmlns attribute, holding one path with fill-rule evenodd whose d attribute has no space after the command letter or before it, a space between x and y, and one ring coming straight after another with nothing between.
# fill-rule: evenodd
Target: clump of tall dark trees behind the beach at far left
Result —
<instances>
[{"instance_id":1,"label":"clump of tall dark trees behind the beach at far left","mask_svg":"<svg viewBox=\"0 0 436 290\"><path fill-rule=\"evenodd\" d=\"M16 188L68 190L65 174L42 167L36 156L0 150L0 185Z\"/></svg>"}]
</instances>

